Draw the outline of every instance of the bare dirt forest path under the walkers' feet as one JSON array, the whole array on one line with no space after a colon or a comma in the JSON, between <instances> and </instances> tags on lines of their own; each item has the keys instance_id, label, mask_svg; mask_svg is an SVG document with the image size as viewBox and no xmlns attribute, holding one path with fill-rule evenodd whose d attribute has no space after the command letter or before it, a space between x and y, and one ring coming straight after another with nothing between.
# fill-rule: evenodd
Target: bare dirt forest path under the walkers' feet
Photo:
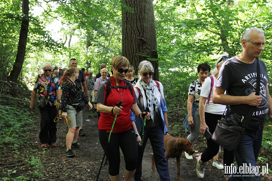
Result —
<instances>
[{"instance_id":1,"label":"bare dirt forest path under the walkers' feet","mask_svg":"<svg viewBox=\"0 0 272 181\"><path fill-rule=\"evenodd\" d=\"M95 114L95 112L88 111L87 107L83 110L83 129L86 132L86 136L79 136L78 143L80 144L81 150L76 150L74 153L76 157L67 158L64 156L66 150L65 137L66 137L66 126L63 121L57 124L57 147L47 148L45 150L45 160L43 164L48 165L47 177L43 180L96 180L97 173L101 164L103 157L103 149L99 143L97 123L98 118L88 118L89 114ZM37 133L39 130L39 125L37 125ZM36 137L38 141L38 137ZM39 150L42 148L37 145ZM120 164L120 176L121 180L124 180L124 168L125 163L121 153L121 164ZM142 180L144 181L159 181L159 175L157 170L151 170L151 144L147 144L145 148L144 158L143 158L143 173ZM200 155L199 153L194 155L194 160L187 160L183 154L181 158L181 177L184 181L200 181L200 180L223 180L223 170L218 170L212 167L212 162L207 164L205 179L199 179L196 177L195 167L196 158ZM105 162L105 160L104 160ZM176 176L176 160L169 159L169 172L171 180L177 181ZM108 165L102 167L99 180L110 180L108 177Z\"/></svg>"}]
</instances>

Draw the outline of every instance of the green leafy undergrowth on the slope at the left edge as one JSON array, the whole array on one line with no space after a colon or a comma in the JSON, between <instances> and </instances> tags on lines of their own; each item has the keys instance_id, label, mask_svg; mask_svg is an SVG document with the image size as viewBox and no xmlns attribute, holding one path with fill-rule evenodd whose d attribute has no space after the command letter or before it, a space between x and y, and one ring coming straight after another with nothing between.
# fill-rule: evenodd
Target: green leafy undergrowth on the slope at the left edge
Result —
<instances>
[{"instance_id":1,"label":"green leafy undergrowth on the slope at the left edge","mask_svg":"<svg viewBox=\"0 0 272 181\"><path fill-rule=\"evenodd\" d=\"M24 84L0 81L0 146L18 147L26 143L37 109L29 109L31 91Z\"/></svg>"}]
</instances>

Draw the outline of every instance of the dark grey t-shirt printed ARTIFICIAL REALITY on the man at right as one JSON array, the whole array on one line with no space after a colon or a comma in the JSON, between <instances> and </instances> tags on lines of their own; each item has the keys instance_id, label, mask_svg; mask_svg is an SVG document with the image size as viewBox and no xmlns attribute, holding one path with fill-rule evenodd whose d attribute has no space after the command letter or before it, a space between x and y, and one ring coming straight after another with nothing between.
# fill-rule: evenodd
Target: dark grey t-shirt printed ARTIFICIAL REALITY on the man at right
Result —
<instances>
[{"instance_id":1,"label":"dark grey t-shirt printed ARTIFICIAL REALITY on the man at right","mask_svg":"<svg viewBox=\"0 0 272 181\"><path fill-rule=\"evenodd\" d=\"M262 103L256 107L252 117L265 119L268 113L267 82L269 81L264 62L259 60L261 84L260 95L263 97ZM248 96L256 91L257 62L247 64L232 57L222 64L215 87L227 90L228 95ZM232 112L239 115L248 115L250 105L238 104L230 105Z\"/></svg>"}]
</instances>

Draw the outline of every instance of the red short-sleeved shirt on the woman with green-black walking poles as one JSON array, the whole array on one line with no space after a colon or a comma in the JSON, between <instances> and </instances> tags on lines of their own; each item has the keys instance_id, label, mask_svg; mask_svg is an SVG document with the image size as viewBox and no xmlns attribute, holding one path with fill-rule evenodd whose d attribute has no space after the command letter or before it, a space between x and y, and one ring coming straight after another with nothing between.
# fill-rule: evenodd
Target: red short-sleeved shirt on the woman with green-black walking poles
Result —
<instances>
[{"instance_id":1,"label":"red short-sleeved shirt on the woman with green-black walking poles","mask_svg":"<svg viewBox=\"0 0 272 181\"><path fill-rule=\"evenodd\" d=\"M110 78L111 78L111 86L116 86L114 77L111 76ZM122 80L121 82L119 82L119 86L126 86L125 81ZM111 92L108 95L106 106L115 106L118 102L123 100L123 103L121 104L123 109L122 109L122 112L120 112L117 115L115 125L112 131L113 133L125 132L131 129L132 123L131 123L129 111L132 104L137 102L135 101L134 89L132 84L129 84L129 86L131 86L133 95L131 95L131 92L128 88L127 89L119 88L119 90L115 88L111 88ZM100 85L96 97L97 97L97 100L95 102L102 103L104 105L105 98L106 98L106 83L105 82L103 82ZM115 115L113 115L112 113L101 113L101 116L98 121L98 129L107 130L107 132L110 132L112 129L114 118L115 118Z\"/></svg>"}]
</instances>

